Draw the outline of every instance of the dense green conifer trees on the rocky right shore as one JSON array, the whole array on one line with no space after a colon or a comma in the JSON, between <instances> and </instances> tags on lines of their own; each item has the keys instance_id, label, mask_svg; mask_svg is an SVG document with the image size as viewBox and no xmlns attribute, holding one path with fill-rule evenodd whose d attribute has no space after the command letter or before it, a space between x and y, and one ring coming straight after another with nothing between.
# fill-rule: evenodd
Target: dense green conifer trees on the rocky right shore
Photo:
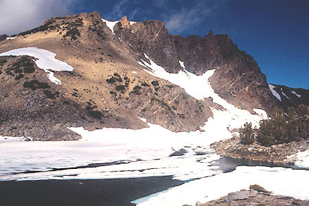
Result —
<instances>
[{"instance_id":1,"label":"dense green conifer trees on the rocky right shore","mask_svg":"<svg viewBox=\"0 0 309 206\"><path fill-rule=\"evenodd\" d=\"M275 117L262 120L260 128L253 129L252 124L244 124L240 128L241 142L252 144L257 141L262 146L272 146L308 139L308 116L308 106L303 104L288 108L287 113L275 108Z\"/></svg>"}]
</instances>

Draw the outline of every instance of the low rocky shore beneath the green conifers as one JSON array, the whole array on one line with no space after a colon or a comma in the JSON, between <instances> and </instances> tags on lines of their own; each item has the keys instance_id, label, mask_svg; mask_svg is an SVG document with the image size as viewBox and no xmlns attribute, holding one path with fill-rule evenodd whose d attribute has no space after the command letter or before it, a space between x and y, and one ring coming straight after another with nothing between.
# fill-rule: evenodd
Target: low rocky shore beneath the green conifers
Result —
<instances>
[{"instance_id":1,"label":"low rocky shore beneath the green conifers","mask_svg":"<svg viewBox=\"0 0 309 206\"><path fill-rule=\"evenodd\" d=\"M289 157L297 152L304 152L309 149L309 140L292 141L286 144L273 146L260 146L256 142L245 145L240 143L239 137L225 139L211 144L211 148L219 155L237 159L251 159L255 161L267 161L272 163L292 164L297 157Z\"/></svg>"}]
</instances>

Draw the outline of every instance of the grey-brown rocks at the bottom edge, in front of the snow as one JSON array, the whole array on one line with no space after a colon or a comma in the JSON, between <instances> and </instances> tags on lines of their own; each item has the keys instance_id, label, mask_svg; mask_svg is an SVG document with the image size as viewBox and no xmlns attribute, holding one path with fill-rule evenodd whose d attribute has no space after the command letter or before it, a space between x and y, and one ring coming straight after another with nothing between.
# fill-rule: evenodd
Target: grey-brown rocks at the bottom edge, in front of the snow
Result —
<instances>
[{"instance_id":1,"label":"grey-brown rocks at the bottom edge, in front of the snow","mask_svg":"<svg viewBox=\"0 0 309 206\"><path fill-rule=\"evenodd\" d=\"M301 201L290 196L272 195L260 185L250 185L250 190L231 192L217 200L196 206L232 206L232 205L309 205L309 201Z\"/></svg>"}]
</instances>

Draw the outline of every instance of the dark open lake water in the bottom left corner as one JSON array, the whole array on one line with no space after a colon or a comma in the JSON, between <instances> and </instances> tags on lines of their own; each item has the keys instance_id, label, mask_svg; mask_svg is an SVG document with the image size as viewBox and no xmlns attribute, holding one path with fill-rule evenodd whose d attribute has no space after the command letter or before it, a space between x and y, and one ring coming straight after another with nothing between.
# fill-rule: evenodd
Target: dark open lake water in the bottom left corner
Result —
<instances>
[{"instance_id":1,"label":"dark open lake water in the bottom left corner","mask_svg":"<svg viewBox=\"0 0 309 206\"><path fill-rule=\"evenodd\" d=\"M4 181L0 205L134 205L130 201L181 185L171 176L135 179Z\"/></svg>"}]
</instances>

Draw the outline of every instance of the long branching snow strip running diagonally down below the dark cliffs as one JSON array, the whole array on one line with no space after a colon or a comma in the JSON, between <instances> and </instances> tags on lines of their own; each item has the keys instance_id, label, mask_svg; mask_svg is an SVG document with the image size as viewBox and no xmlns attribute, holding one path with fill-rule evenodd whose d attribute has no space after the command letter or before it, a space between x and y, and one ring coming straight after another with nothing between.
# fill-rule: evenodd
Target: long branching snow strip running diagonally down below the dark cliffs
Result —
<instances>
[{"instance_id":1,"label":"long branching snow strip running diagonally down below the dark cliffs","mask_svg":"<svg viewBox=\"0 0 309 206\"><path fill-rule=\"evenodd\" d=\"M207 124L209 120L206 122L205 128L209 130L227 130L227 128L240 128L245 122L252 122L253 126L258 126L258 123L261 119L265 118L266 112L261 109L258 110L258 115L252 115L249 111L241 110L236 108L232 104L229 104L226 100L220 98L220 96L214 92L212 89L209 78L214 74L216 69L208 70L203 75L197 76L194 73L190 73L185 69L183 71L179 71L179 73L168 73L165 69L155 62L153 62L146 54L144 54L146 58L150 61L148 62L141 59L141 62L138 62L139 65L149 68L144 69L147 73L150 73L152 76L156 76L158 78L162 78L163 80L168 80L172 84L179 85L179 87L185 89L185 92L192 95L192 97L196 98L197 100L203 100L204 98L212 98L212 100L220 104L226 111L217 111L213 109L214 118L211 122L214 122L212 126L209 128ZM179 62L181 64L181 62ZM206 130L206 129L205 129ZM208 133L208 130L206 130ZM227 134L227 133L226 133ZM231 134L229 133L229 136Z\"/></svg>"}]
</instances>

